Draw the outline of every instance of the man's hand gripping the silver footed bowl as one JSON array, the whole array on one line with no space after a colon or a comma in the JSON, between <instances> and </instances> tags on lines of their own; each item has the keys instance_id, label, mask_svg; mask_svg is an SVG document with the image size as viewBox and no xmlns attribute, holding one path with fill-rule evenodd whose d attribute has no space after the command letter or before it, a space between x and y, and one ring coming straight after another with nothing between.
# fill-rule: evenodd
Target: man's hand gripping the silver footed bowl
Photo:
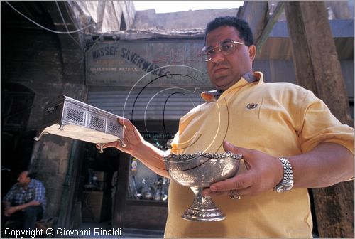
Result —
<instances>
[{"instance_id":1,"label":"man's hand gripping the silver footed bowl","mask_svg":"<svg viewBox=\"0 0 355 239\"><path fill-rule=\"evenodd\" d=\"M278 158L254 149L236 147L224 141L224 149L243 154L246 171L231 179L212 184L204 190L204 196L229 194L234 190L237 196L253 196L271 190L283 179L283 165Z\"/></svg>"}]
</instances>

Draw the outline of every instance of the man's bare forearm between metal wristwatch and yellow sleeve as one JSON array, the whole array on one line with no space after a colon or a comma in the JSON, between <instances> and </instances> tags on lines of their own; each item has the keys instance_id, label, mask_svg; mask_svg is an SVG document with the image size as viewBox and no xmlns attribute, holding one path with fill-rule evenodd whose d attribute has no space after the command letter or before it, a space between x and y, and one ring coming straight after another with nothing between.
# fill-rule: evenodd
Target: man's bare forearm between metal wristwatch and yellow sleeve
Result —
<instances>
[{"instance_id":1,"label":"man's bare forearm between metal wristwatch and yellow sleeve","mask_svg":"<svg viewBox=\"0 0 355 239\"><path fill-rule=\"evenodd\" d=\"M354 155L339 144L323 143L288 159L297 188L327 187L354 177Z\"/></svg>"}]
</instances>

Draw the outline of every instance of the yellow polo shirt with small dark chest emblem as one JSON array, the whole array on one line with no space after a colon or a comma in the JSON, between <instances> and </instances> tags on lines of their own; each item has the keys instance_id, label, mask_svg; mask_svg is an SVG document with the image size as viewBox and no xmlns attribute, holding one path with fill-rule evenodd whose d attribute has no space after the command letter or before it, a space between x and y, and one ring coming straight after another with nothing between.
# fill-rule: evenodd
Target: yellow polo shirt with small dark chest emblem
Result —
<instances>
[{"instance_id":1,"label":"yellow polo shirt with small dark chest emblem","mask_svg":"<svg viewBox=\"0 0 355 239\"><path fill-rule=\"evenodd\" d=\"M180 119L172 152L224 152L224 139L239 147L273 156L310 151L320 142L342 144L354 154L354 129L341 124L309 90L290 83L264 83L241 78L215 99ZM244 171L242 165L239 171ZM192 204L190 188L170 181L165 238L311 238L312 215L307 188L285 193L272 190L232 200L214 196L224 221L192 222L181 218Z\"/></svg>"}]
</instances>

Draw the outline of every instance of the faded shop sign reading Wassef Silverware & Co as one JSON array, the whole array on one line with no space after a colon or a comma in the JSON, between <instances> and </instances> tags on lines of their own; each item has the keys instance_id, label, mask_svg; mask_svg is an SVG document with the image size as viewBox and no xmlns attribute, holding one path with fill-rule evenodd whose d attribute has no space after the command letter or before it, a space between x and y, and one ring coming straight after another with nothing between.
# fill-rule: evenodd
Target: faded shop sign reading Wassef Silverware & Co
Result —
<instances>
[{"instance_id":1,"label":"faded shop sign reading Wassef Silverware & Co","mask_svg":"<svg viewBox=\"0 0 355 239\"><path fill-rule=\"evenodd\" d=\"M209 86L202 40L112 41L86 53L87 85Z\"/></svg>"}]
</instances>

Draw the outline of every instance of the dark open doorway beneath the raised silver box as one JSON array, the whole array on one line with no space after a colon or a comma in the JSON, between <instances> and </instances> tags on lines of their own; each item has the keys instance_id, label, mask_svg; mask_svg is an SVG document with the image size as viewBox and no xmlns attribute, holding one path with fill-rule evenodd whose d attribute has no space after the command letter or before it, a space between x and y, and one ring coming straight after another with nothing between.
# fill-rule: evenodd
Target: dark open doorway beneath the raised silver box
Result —
<instances>
[{"instance_id":1,"label":"dark open doorway beneath the raised silver box","mask_svg":"<svg viewBox=\"0 0 355 239\"><path fill-rule=\"evenodd\" d=\"M79 228L94 230L113 228L114 192L119 171L119 151L104 149L100 153L92 143L84 143L83 164L80 173L81 223Z\"/></svg>"}]
</instances>

